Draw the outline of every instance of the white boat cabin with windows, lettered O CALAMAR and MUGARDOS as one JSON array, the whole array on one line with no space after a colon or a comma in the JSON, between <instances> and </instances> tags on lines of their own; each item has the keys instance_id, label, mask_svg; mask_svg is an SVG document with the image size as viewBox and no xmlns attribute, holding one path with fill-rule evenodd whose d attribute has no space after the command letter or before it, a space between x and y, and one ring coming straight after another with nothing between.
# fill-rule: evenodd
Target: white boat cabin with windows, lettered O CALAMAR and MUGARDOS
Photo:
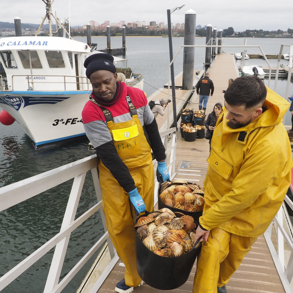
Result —
<instances>
[{"instance_id":1,"label":"white boat cabin with windows, lettered O CALAMAR and MUGARDOS","mask_svg":"<svg viewBox=\"0 0 293 293\"><path fill-rule=\"evenodd\" d=\"M89 90L83 63L90 47L60 37L0 39L0 62L8 90ZM52 88L52 84L54 87Z\"/></svg>"}]
</instances>

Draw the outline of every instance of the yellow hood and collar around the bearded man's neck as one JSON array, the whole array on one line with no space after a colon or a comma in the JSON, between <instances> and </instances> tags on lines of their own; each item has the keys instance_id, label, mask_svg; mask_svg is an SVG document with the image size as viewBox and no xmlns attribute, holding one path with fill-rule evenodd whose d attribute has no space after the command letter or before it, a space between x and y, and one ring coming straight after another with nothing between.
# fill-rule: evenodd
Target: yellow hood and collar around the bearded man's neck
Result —
<instances>
[{"instance_id":1,"label":"yellow hood and collar around the bearded man's neck","mask_svg":"<svg viewBox=\"0 0 293 293\"><path fill-rule=\"evenodd\" d=\"M283 116L286 113L286 111L289 109L290 104L285 99L283 99L281 96L279 96L277 93L275 93L270 88L267 88L267 96L266 100L263 104L263 108L266 110L260 114L256 119L251 121L248 125L243 126L241 128L232 129L227 126L228 119L226 119L227 110L225 107L223 107L223 111L220 114L220 117L217 121L217 124L220 123L220 121L223 120L223 136L225 134L233 133L233 132L251 132L255 128L258 127L267 127L267 126L274 126L278 125L283 121Z\"/></svg>"}]
</instances>

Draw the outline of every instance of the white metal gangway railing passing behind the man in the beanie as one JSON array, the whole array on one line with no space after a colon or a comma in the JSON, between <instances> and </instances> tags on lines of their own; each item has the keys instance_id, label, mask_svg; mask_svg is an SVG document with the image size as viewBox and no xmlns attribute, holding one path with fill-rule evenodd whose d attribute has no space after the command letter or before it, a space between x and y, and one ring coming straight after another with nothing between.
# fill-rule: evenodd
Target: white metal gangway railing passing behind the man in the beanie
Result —
<instances>
[{"instance_id":1,"label":"white metal gangway railing passing behind the man in the beanie","mask_svg":"<svg viewBox=\"0 0 293 293\"><path fill-rule=\"evenodd\" d=\"M170 174L172 174L172 172L175 170L176 159L176 128L168 129L160 133L160 135L166 150L167 167ZM62 292L70 280L72 280L78 271L80 271L80 269L88 262L90 257L98 251L99 247L102 247L102 244L105 241L107 241L111 260L109 260L106 269L101 272L101 275L93 285L96 291L99 289L107 275L110 273L111 269L118 261L119 257L116 254L116 250L106 228L105 215L102 209L102 192L97 171L98 162L98 158L94 154L76 162L69 163L67 165L0 188L0 212L2 212L36 196L37 194L48 191L55 186L61 185L62 183L73 179L73 184L69 194L60 232L54 235L50 240L48 240L45 244L32 253L28 247L28 251L26 252L28 256L12 269L7 271L7 273L5 273L0 278L0 291L9 286L11 282L16 280L16 278L18 278L24 271L33 266L38 260L40 260L45 254L47 254L55 247L44 292ZM87 186L84 186L84 183L88 171L91 172L91 179L95 189L97 202L92 207L88 208L82 215L76 218L76 211L79 205L82 189L87 188ZM156 181L155 190L158 190L158 184L159 183ZM156 196L156 194L157 193L155 193L154 196ZM89 217L98 211L100 213L105 232L99 236L99 240L94 243L89 251L85 253L85 255L67 274L65 274L65 276L63 276L62 280L60 281L60 275L65 263L65 255L68 249L68 243L71 234L73 231L76 231L76 229L79 228L79 226L82 225ZM27 217L28 216L29 215L27 215ZM92 226L92 228L89 229L95 229L95 227ZM27 229L27 231L30 230ZM84 236L82 240L85 240ZM80 280L80 283L81 282L82 280Z\"/></svg>"}]
</instances>

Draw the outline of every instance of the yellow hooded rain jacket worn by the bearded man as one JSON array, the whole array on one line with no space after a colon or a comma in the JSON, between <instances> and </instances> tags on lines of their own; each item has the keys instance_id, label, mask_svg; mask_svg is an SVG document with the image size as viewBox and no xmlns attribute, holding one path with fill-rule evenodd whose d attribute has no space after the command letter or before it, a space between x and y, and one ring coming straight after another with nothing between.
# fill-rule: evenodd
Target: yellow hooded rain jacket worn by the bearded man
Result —
<instances>
[{"instance_id":1,"label":"yellow hooded rain jacket worn by the bearded man","mask_svg":"<svg viewBox=\"0 0 293 293\"><path fill-rule=\"evenodd\" d=\"M257 237L283 203L291 181L292 151L282 117L289 103L274 91L265 111L242 128L227 126L225 107L217 120L204 181L199 222L210 230Z\"/></svg>"}]
</instances>

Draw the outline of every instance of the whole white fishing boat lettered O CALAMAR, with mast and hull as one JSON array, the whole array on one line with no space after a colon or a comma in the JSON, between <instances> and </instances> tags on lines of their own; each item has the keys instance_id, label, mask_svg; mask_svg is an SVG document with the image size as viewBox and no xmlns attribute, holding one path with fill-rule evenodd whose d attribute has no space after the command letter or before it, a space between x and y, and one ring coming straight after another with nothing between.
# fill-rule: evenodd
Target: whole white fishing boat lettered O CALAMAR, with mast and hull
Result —
<instances>
[{"instance_id":1,"label":"whole white fishing boat lettered O CALAMAR, with mast and hull","mask_svg":"<svg viewBox=\"0 0 293 293\"><path fill-rule=\"evenodd\" d=\"M51 16L50 2L46 1L46 16ZM58 19L56 22L66 32ZM4 110L0 122L18 122L35 149L85 137L81 112L92 87L83 63L99 51L94 44L75 41L66 33L53 37L49 29L50 36L38 36L37 32L35 36L0 39L4 69L0 76L0 107ZM120 61L124 59L114 57L114 63ZM119 75L129 86L143 89L142 74Z\"/></svg>"}]
</instances>

